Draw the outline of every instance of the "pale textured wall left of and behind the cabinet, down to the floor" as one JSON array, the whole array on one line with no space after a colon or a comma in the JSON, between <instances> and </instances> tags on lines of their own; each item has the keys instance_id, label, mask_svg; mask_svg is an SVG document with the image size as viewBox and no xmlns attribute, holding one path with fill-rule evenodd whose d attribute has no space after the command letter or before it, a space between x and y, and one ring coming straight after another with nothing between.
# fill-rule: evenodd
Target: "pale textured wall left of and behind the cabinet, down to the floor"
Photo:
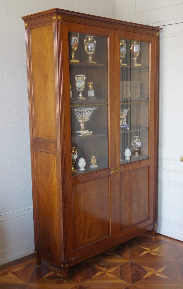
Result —
<instances>
[{"instance_id":1,"label":"pale textured wall left of and behind the cabinet, down to the floor","mask_svg":"<svg viewBox=\"0 0 183 289\"><path fill-rule=\"evenodd\" d=\"M116 18L115 0L0 1L0 264L34 252L24 22L52 8Z\"/></svg>"}]
</instances>

